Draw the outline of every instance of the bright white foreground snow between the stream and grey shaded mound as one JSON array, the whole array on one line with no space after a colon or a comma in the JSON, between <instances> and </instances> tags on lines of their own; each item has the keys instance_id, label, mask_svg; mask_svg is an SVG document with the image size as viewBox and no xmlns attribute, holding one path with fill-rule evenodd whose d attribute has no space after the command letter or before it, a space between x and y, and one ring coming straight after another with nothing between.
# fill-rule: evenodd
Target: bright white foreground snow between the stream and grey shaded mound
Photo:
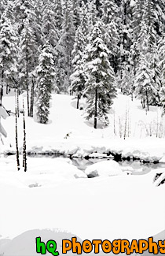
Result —
<instances>
[{"instance_id":1,"label":"bright white foreground snow between the stream and grey shaded mound","mask_svg":"<svg viewBox=\"0 0 165 256\"><path fill-rule=\"evenodd\" d=\"M141 239L165 229L165 186L154 186L156 171L94 179L79 172L56 159L31 158L27 173L1 168L0 235L60 228L81 239Z\"/></svg>"}]
</instances>

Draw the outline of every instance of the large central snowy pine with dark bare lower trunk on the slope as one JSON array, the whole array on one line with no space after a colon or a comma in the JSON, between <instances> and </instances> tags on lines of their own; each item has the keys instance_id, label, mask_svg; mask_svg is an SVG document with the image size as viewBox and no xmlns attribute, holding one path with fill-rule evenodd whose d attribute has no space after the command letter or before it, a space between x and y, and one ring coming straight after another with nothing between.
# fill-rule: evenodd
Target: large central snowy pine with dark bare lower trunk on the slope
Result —
<instances>
[{"instance_id":1,"label":"large central snowy pine with dark bare lower trunk on the slope","mask_svg":"<svg viewBox=\"0 0 165 256\"><path fill-rule=\"evenodd\" d=\"M90 44L86 46L86 119L94 117L94 128L97 119L108 124L107 113L116 97L114 71L108 61L108 48L103 41L103 35L98 21L93 28Z\"/></svg>"}]
</instances>

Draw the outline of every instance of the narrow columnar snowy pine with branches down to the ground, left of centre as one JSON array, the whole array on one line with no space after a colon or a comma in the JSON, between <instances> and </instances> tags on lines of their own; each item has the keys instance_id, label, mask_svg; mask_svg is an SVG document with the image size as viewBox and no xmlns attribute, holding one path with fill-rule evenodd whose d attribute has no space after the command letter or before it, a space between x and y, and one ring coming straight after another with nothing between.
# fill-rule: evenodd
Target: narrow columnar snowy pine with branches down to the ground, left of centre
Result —
<instances>
[{"instance_id":1,"label":"narrow columnar snowy pine with branches down to the ground, left of centre","mask_svg":"<svg viewBox=\"0 0 165 256\"><path fill-rule=\"evenodd\" d=\"M55 77L53 54L48 41L42 46L36 72L38 74L36 114L38 121L46 124L49 121L49 101Z\"/></svg>"}]
</instances>

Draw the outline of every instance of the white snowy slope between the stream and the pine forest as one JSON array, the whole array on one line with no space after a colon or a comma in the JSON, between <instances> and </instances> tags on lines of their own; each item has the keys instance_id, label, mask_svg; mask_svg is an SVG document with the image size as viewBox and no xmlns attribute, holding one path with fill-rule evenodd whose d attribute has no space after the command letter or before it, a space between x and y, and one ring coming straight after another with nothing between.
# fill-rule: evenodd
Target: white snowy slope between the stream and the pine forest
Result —
<instances>
[{"instance_id":1,"label":"white snowy slope between the stream and the pine forest","mask_svg":"<svg viewBox=\"0 0 165 256\"><path fill-rule=\"evenodd\" d=\"M12 95L13 92L11 96L4 97L3 102L6 109L14 112L15 99ZM20 96L20 108L22 98L23 95ZM85 102L82 101L81 105L85 107ZM124 158L164 162L165 125L160 107L150 106L150 111L146 114L141 109L139 100L134 99L132 102L129 96L119 94L109 114L110 124L104 127L99 123L96 130L93 128L93 120L86 121L83 110L75 109L75 106L76 100L72 96L52 95L49 124L38 124L34 121L35 118L27 117L27 151L40 154L72 154L81 158L91 154L93 157L94 153L111 152L122 154ZM21 150L22 114L18 122ZM4 146L1 145L0 152L15 151L15 117L2 120L2 125L6 128L8 137L3 139ZM123 139L124 135L126 139Z\"/></svg>"}]
</instances>

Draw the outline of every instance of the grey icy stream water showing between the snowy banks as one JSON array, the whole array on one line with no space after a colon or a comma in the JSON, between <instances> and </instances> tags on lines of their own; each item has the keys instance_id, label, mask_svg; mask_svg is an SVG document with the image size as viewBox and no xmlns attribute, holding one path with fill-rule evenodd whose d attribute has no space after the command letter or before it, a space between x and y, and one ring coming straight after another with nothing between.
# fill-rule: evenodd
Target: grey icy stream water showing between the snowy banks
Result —
<instances>
[{"instance_id":1,"label":"grey icy stream water showing between the snowy banks","mask_svg":"<svg viewBox=\"0 0 165 256\"><path fill-rule=\"evenodd\" d=\"M61 155L31 155L30 158L64 158L66 161L70 161L72 165L75 165L78 169L85 171L86 167L89 165L93 165L94 163L97 163L98 161L111 161L109 158L90 158L90 159L84 159L84 158L65 158ZM143 175L146 173L149 173L153 169L159 169L159 168L165 168L165 163L143 163L141 161L119 161L119 165L121 166L121 169L123 171L130 171L133 175Z\"/></svg>"}]
</instances>

